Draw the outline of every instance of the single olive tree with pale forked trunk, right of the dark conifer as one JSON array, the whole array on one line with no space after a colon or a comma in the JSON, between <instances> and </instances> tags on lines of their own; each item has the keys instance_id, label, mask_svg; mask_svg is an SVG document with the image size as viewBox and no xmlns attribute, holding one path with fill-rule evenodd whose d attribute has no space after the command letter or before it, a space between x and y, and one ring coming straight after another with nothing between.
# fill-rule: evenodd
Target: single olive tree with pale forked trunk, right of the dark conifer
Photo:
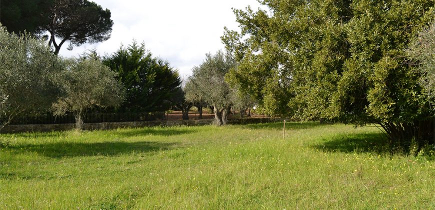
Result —
<instances>
[{"instance_id":1,"label":"single olive tree with pale forked trunk, right of the dark conifer","mask_svg":"<svg viewBox=\"0 0 435 210\"><path fill-rule=\"evenodd\" d=\"M214 118L217 125L226 123L226 117L231 108L231 88L225 81L225 74L235 62L230 53L217 51L216 54L206 54L205 60L192 68L189 77L191 86L186 89L190 96L198 96L197 101L204 100L214 108ZM191 92L189 92L191 91Z\"/></svg>"}]
</instances>

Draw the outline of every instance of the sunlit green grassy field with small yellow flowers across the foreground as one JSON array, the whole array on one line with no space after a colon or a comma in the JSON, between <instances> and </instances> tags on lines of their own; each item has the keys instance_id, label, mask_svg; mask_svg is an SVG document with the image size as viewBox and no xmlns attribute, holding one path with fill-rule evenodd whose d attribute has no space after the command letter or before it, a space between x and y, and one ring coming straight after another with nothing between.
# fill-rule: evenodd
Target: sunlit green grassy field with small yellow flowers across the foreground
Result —
<instances>
[{"instance_id":1,"label":"sunlit green grassy field with small yellow flowers across the foreground","mask_svg":"<svg viewBox=\"0 0 435 210\"><path fill-rule=\"evenodd\" d=\"M435 208L433 156L315 122L5 135L0 208Z\"/></svg>"}]
</instances>

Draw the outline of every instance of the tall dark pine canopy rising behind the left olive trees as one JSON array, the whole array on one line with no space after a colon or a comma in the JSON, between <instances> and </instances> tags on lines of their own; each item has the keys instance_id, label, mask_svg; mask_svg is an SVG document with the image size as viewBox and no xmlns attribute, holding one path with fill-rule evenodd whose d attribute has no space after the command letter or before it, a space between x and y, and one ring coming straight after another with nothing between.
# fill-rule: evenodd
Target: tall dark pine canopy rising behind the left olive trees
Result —
<instances>
[{"instance_id":1,"label":"tall dark pine canopy rising behind the left olive trees","mask_svg":"<svg viewBox=\"0 0 435 210\"><path fill-rule=\"evenodd\" d=\"M72 49L107 40L113 25L110 10L88 0L3 0L0 11L1 23L9 32L48 32L55 54L66 41Z\"/></svg>"}]
</instances>

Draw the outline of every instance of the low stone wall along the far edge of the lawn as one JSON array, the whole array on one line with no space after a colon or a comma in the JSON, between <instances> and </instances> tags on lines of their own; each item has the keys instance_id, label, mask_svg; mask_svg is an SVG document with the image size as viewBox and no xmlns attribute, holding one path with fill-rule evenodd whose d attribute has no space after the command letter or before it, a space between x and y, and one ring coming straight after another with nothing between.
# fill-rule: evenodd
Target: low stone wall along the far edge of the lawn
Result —
<instances>
[{"instance_id":1,"label":"low stone wall along the far edge of the lawn","mask_svg":"<svg viewBox=\"0 0 435 210\"><path fill-rule=\"evenodd\" d=\"M279 121L278 118L238 118L229 119L228 124L253 124ZM206 125L211 124L213 119L198 120L167 120L167 121L137 121L137 122L100 122L84 123L85 130L105 130L125 127L149 127L149 126L176 126L176 125ZM74 128L74 124L19 124L7 125L1 128L1 133L37 132L37 131L61 131Z\"/></svg>"}]
</instances>

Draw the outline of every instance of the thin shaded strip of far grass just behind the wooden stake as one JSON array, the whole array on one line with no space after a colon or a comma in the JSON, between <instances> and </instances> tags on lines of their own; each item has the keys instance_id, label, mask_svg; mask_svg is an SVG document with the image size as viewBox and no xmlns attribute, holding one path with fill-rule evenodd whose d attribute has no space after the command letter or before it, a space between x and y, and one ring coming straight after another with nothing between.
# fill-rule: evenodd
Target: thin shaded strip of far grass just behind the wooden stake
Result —
<instances>
[{"instance_id":1,"label":"thin shaded strip of far grass just behind the wooden stake","mask_svg":"<svg viewBox=\"0 0 435 210\"><path fill-rule=\"evenodd\" d=\"M317 126L326 126L327 124L321 124L316 121L308 121L308 122L285 122L285 129L308 129ZM282 129L282 122L273 122L273 123L260 123L260 124L247 124L244 125L246 128L250 129Z\"/></svg>"}]
</instances>

